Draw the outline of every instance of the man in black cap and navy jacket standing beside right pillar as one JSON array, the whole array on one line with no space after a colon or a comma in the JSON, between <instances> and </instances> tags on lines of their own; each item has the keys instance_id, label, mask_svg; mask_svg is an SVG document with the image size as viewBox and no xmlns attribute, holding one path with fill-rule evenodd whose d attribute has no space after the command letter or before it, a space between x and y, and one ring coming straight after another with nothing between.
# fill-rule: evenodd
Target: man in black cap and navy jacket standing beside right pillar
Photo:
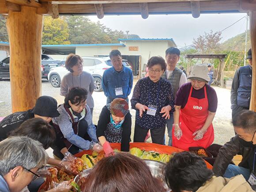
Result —
<instances>
[{"instance_id":1,"label":"man in black cap and navy jacket standing beside right pillar","mask_svg":"<svg viewBox=\"0 0 256 192\"><path fill-rule=\"evenodd\" d=\"M249 65L239 68L233 78L231 87L231 109L232 119L236 113L241 110L247 110L250 107L252 90L252 49L248 50Z\"/></svg>"}]
</instances>

